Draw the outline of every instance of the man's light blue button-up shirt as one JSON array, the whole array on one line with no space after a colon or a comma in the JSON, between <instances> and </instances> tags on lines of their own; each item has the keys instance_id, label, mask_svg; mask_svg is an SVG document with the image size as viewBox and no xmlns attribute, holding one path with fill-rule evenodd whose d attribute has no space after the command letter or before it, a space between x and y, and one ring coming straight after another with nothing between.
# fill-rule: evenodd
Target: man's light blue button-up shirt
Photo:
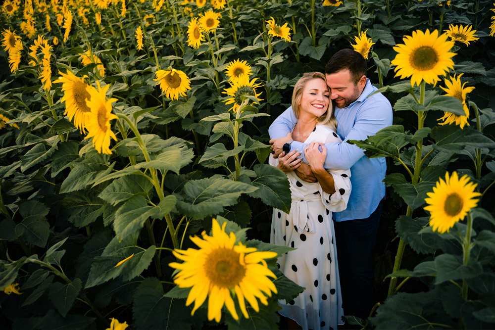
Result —
<instances>
[{"instance_id":1,"label":"man's light blue button-up shirt","mask_svg":"<svg viewBox=\"0 0 495 330\"><path fill-rule=\"evenodd\" d=\"M325 144L327 158L324 167L334 170L350 169L352 184L347 209L334 213L336 221L368 218L385 196L385 184L382 182L387 170L385 158L369 159L364 155L363 149L346 143L347 140L366 140L368 136L392 125L392 106L389 100L381 93L367 97L376 90L367 79L363 93L357 100L345 108L335 108L337 134L343 142ZM285 137L292 132L296 123L294 111L289 107L270 125L270 138ZM304 146L304 143L294 141L291 150L304 150Z\"/></svg>"}]
</instances>

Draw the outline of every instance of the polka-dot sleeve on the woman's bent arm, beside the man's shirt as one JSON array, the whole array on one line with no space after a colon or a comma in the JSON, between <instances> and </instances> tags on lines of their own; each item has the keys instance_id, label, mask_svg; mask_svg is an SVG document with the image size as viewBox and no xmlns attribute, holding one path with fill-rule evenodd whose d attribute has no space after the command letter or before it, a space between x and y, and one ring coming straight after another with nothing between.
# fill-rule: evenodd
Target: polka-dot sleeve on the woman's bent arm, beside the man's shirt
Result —
<instances>
[{"instance_id":1,"label":"polka-dot sleeve on the woman's bent arm, beside the man's shirt","mask_svg":"<svg viewBox=\"0 0 495 330\"><path fill-rule=\"evenodd\" d=\"M334 177L334 193L325 192L320 185L321 201L325 207L332 212L344 211L347 208L350 192L352 190L350 184L350 170L330 170L328 171Z\"/></svg>"}]
</instances>

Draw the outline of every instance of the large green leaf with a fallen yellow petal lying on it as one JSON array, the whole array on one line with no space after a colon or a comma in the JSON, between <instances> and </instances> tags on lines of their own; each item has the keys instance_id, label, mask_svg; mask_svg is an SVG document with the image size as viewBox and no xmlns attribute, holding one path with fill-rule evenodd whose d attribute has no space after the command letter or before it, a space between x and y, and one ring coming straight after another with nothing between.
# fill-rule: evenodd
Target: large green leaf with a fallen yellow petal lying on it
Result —
<instances>
[{"instance_id":1,"label":"large green leaf with a fallen yellow petal lying on it","mask_svg":"<svg viewBox=\"0 0 495 330\"><path fill-rule=\"evenodd\" d=\"M96 256L86 282L86 288L105 283L118 276L130 281L139 276L151 263L156 247L151 245L144 249L136 245L137 235L127 236L119 241L115 236L100 256ZM133 255L134 254L134 255ZM115 267L120 261L130 257L123 264Z\"/></svg>"}]
</instances>

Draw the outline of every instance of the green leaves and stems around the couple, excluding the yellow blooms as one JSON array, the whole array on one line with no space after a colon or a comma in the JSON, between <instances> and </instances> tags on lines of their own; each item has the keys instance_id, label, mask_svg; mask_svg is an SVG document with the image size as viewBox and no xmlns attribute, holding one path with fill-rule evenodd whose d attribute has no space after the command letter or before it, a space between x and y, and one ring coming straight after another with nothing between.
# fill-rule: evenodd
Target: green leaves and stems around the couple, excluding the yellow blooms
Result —
<instances>
[{"instance_id":1,"label":"green leaves and stems around the couple, excluding the yellow blooms","mask_svg":"<svg viewBox=\"0 0 495 330\"><path fill-rule=\"evenodd\" d=\"M288 211L291 200L285 175L265 164L267 129L273 116L290 105L298 77L324 71L326 60L350 47L359 30L367 30L376 43L367 76L395 110L394 126L365 142L354 141L368 157L389 160L385 182L390 188L375 260L382 305L367 326L493 328L495 43L489 36L490 1L346 0L322 6L318 1L233 0L220 10L218 44L210 48L203 42L198 49L186 43L190 16L184 5L165 3L155 14L151 1L129 1L125 18L111 5L102 12L104 31L91 14L88 26L78 21L67 44L53 48L58 70L70 67L93 81L95 65L82 66L79 54L92 47L101 58L102 84L111 84L108 96L118 98L113 111L120 119L112 130L119 141L111 144L112 155L97 153L63 117L60 86L52 87L50 105L38 67L24 61L11 74L7 54L0 52L0 113L20 127L0 131L0 288L20 283L23 292L0 293L1 328L100 329L111 317L136 329L277 328L277 299L292 299L300 287L277 270L275 260L269 267L278 276L279 294L259 314L250 310L250 319L238 323L223 313L224 323L217 326L206 321L204 307L190 316L191 308L184 306L187 290L174 289L167 265L175 258L167 249L195 247L188 236L208 232L216 217L229 220L228 228L250 246L287 251L263 243L269 239L272 208ZM195 16L210 8L209 3L188 6ZM145 26L146 49L139 51L134 34L144 14L155 14L155 22ZM1 29L19 30L21 13L16 15L19 19L2 14ZM38 32L61 41L63 30L50 15L53 30L48 33L45 14L35 12ZM290 43L267 37L264 21L270 16L289 23ZM442 111L462 111L456 99L442 98L442 82L424 92L414 90L409 81L395 78L390 66L396 55L392 47L404 35L444 30L448 24L473 24L480 37L453 49L451 73L464 73L467 86L476 87L469 97L479 110L479 125L471 106L470 126L464 130L437 123ZM21 36L26 49L32 40ZM221 92L229 87L224 70L238 58L253 66L253 76L264 87L263 101L246 106L236 118ZM153 81L157 63L191 78L187 97L169 101L161 95ZM419 98L421 93L426 101L418 105L412 94ZM418 157L424 157L419 167ZM458 223L449 234L433 233L422 209L426 192L454 170L468 174L484 193L472 213L475 245L466 265L460 238L466 224ZM416 181L408 171L417 173ZM149 179L152 173L157 181ZM402 264L394 267L399 241ZM387 298L391 273L407 280L391 286ZM469 287L467 297L459 289L462 281Z\"/></svg>"}]
</instances>

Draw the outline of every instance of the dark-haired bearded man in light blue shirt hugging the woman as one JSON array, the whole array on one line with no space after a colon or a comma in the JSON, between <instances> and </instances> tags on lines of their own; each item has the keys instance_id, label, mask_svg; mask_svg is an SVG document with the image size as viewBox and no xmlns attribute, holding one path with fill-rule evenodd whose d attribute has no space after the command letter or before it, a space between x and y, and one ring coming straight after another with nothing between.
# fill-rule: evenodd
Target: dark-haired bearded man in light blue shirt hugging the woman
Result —
<instances>
[{"instance_id":1,"label":"dark-haired bearded man in light blue shirt hugging the woman","mask_svg":"<svg viewBox=\"0 0 495 330\"><path fill-rule=\"evenodd\" d=\"M385 158L369 159L364 150L347 140L365 140L384 127L392 125L392 106L366 78L366 60L358 52L342 49L335 53L325 67L327 85L334 101L337 133L342 143L327 143L325 168L350 169L352 193L347 209L334 213L339 273L344 301L344 313L366 319L373 305L373 265L371 253L385 196ZM297 122L292 107L282 113L270 126L270 143L274 157L282 151L306 145L292 141L291 132ZM301 155L304 157L304 154ZM305 162L305 158L303 158ZM297 176L315 182L309 165L302 164ZM336 192L339 193L339 192Z\"/></svg>"}]
</instances>

